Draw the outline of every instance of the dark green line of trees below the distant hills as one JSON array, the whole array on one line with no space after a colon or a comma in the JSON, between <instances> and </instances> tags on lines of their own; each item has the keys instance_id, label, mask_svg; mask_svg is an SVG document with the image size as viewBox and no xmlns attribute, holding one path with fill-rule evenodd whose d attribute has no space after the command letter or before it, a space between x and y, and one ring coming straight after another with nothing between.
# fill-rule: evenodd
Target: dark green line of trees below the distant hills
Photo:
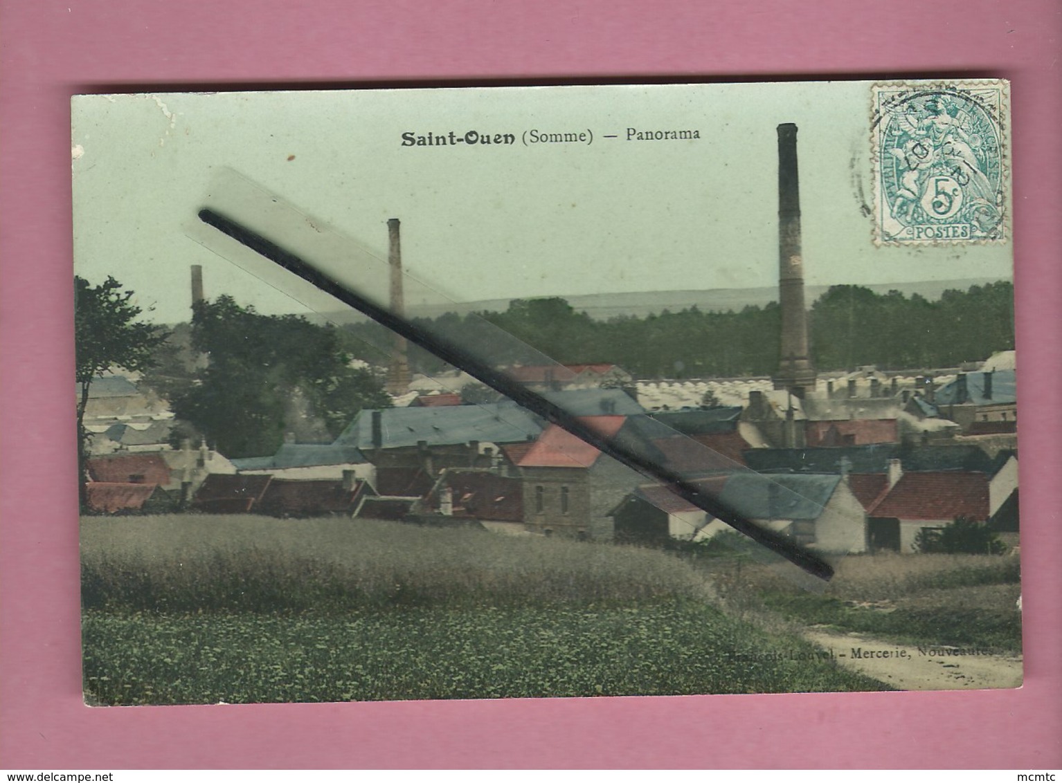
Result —
<instances>
[{"instance_id":1,"label":"dark green line of trees below the distant hills","mask_svg":"<svg viewBox=\"0 0 1062 783\"><path fill-rule=\"evenodd\" d=\"M484 321L519 343L499 338ZM504 312L447 313L414 323L498 365L535 364L545 354L562 364L618 364L641 378L733 378L767 376L777 368L782 317L771 302L738 311L692 307L595 320L553 297L514 299ZM835 285L815 301L809 324L812 360L821 370L868 364L952 367L1013 349L1014 291L1000 281L946 291L930 301L919 294ZM354 350L366 360L374 354L369 346L388 345L387 330L376 324L345 330L361 343ZM429 375L443 369L440 360L415 347L410 363Z\"/></svg>"}]
</instances>

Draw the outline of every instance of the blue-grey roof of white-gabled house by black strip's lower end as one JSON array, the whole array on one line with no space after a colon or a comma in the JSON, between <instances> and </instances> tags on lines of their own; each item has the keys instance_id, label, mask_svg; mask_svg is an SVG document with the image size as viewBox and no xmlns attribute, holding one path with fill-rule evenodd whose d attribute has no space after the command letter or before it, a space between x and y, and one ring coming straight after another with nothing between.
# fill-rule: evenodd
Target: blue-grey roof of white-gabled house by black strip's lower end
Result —
<instances>
[{"instance_id":1,"label":"blue-grey roof of white-gabled house by black strip's lower end","mask_svg":"<svg viewBox=\"0 0 1062 783\"><path fill-rule=\"evenodd\" d=\"M822 514L841 476L735 473L719 493L721 503L750 519L813 520Z\"/></svg>"}]
</instances>

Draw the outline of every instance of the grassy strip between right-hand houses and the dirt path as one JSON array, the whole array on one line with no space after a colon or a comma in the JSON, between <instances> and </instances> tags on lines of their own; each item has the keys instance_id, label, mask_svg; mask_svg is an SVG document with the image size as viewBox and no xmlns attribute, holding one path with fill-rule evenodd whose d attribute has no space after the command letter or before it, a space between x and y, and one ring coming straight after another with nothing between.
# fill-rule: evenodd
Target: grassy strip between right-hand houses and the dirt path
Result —
<instances>
[{"instance_id":1,"label":"grassy strip between right-hand houses and the dirt path","mask_svg":"<svg viewBox=\"0 0 1062 783\"><path fill-rule=\"evenodd\" d=\"M821 591L794 590L770 566L717 563L732 609L910 644L1022 649L1018 559L998 555L849 556Z\"/></svg>"}]
</instances>

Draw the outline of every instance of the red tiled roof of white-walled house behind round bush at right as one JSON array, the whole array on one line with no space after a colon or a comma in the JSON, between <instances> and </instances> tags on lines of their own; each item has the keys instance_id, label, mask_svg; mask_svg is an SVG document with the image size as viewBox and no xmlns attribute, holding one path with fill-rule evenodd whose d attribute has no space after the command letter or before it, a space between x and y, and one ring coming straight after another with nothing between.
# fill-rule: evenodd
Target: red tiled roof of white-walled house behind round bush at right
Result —
<instances>
[{"instance_id":1,"label":"red tiled roof of white-walled house behind round bush at right","mask_svg":"<svg viewBox=\"0 0 1062 783\"><path fill-rule=\"evenodd\" d=\"M986 473L905 473L867 509L870 517L897 519L969 519L989 517Z\"/></svg>"}]
</instances>

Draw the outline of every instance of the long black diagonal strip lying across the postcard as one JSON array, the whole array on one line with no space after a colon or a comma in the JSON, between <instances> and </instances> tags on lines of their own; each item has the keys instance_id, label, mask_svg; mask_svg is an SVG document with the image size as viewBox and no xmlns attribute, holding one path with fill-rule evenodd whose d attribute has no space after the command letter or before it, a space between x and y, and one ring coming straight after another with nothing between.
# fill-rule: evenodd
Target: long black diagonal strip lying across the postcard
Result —
<instances>
[{"instance_id":1,"label":"long black diagonal strip lying across the postcard","mask_svg":"<svg viewBox=\"0 0 1062 783\"><path fill-rule=\"evenodd\" d=\"M589 443L598 451L607 454L616 462L660 482L683 500L706 511L714 518L725 522L735 530L744 534L772 552L776 552L809 574L822 579L829 579L834 575L834 569L829 563L800 546L792 539L775 530L759 527L734 509L720 503L717 498L700 491L696 485L683 478L675 471L647 459L641 454L613 438L601 435L560 405L551 402L538 393L525 387L504 372L481 362L460 346L436 335L429 334L405 318L374 304L322 274L290 250L286 250L261 234L212 209L200 210L199 216L204 223L232 237L241 245L282 266L288 272L301 277L329 296L367 315L396 334L406 337L410 343L439 356L447 364L467 372L495 392L499 392L528 411L556 424L580 440Z\"/></svg>"}]
</instances>

